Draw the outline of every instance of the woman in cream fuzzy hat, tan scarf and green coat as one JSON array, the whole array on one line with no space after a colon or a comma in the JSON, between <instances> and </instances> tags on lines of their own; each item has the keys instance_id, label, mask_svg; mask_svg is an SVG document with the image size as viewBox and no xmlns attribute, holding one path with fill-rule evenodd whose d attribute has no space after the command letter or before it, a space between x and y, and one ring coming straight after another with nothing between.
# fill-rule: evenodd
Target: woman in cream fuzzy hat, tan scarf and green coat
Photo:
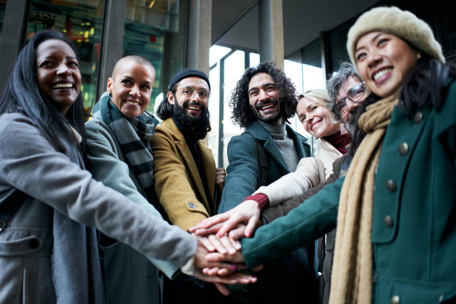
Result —
<instances>
[{"instance_id":1,"label":"woman in cream fuzzy hat, tan scarf and green coat","mask_svg":"<svg viewBox=\"0 0 456 304\"><path fill-rule=\"evenodd\" d=\"M456 68L430 27L395 7L361 15L347 50L372 92L358 113L348 171L242 239L242 254L230 258L254 267L337 219L330 303L454 300Z\"/></svg>"}]
</instances>

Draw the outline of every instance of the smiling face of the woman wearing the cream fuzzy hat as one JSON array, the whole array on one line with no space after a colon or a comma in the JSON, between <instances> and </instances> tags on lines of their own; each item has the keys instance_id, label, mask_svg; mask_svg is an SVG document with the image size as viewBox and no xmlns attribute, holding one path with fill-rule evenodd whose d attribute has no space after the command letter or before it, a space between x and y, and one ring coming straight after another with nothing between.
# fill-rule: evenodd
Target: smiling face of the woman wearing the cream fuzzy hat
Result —
<instances>
[{"instance_id":1,"label":"smiling face of the woman wearing the cream fuzzy hat","mask_svg":"<svg viewBox=\"0 0 456 304\"><path fill-rule=\"evenodd\" d=\"M399 89L418 56L419 52L404 40L380 31L362 36L355 50L360 76L373 93L383 98Z\"/></svg>"}]
</instances>

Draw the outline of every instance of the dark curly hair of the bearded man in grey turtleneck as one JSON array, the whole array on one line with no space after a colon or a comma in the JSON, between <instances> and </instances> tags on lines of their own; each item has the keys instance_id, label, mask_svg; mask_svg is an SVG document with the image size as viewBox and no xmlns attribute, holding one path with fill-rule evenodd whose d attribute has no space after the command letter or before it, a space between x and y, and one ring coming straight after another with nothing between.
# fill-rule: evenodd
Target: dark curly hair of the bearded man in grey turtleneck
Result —
<instances>
[{"instance_id":1,"label":"dark curly hair of the bearded man in grey turtleneck","mask_svg":"<svg viewBox=\"0 0 456 304\"><path fill-rule=\"evenodd\" d=\"M296 87L291 79L286 77L285 72L275 62L261 62L255 67L249 67L239 79L236 87L231 92L229 107L233 109L231 121L241 128L246 128L256 120L249 103L249 82L255 75L267 73L274 80L279 89L280 111L284 119L295 116L298 96Z\"/></svg>"}]
</instances>

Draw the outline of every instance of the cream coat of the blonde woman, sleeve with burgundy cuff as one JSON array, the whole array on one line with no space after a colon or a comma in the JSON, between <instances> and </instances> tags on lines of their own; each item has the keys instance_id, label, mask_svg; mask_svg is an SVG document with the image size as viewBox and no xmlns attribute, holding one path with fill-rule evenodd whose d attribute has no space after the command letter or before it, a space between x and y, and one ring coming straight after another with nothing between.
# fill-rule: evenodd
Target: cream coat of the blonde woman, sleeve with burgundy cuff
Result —
<instances>
[{"instance_id":1,"label":"cream coat of the blonde woman, sleeve with burgundy cuff","mask_svg":"<svg viewBox=\"0 0 456 304\"><path fill-rule=\"evenodd\" d=\"M332 174L332 163L342 156L334 146L325 139L321 139L317 159L321 160L325 169L325 179ZM292 197L300 196L308 189L320 184L318 166L315 158L305 157L299 161L295 172L282 176L280 179L261 186L254 194L264 193L269 198L269 206L276 206Z\"/></svg>"}]
</instances>

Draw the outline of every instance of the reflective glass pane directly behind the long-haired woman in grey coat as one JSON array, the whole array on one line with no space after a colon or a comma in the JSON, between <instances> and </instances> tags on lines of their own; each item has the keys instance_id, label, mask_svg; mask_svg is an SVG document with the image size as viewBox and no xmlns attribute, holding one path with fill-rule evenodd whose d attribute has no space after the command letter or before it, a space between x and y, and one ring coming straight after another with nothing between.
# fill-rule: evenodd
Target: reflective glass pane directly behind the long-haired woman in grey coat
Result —
<instances>
[{"instance_id":1,"label":"reflective glass pane directly behind the long-haired woman in grey coat","mask_svg":"<svg viewBox=\"0 0 456 304\"><path fill-rule=\"evenodd\" d=\"M104 1L32 0L26 39L36 32L52 29L66 33L73 41L82 75L84 115L88 119L97 96L98 62L103 26Z\"/></svg>"}]
</instances>

